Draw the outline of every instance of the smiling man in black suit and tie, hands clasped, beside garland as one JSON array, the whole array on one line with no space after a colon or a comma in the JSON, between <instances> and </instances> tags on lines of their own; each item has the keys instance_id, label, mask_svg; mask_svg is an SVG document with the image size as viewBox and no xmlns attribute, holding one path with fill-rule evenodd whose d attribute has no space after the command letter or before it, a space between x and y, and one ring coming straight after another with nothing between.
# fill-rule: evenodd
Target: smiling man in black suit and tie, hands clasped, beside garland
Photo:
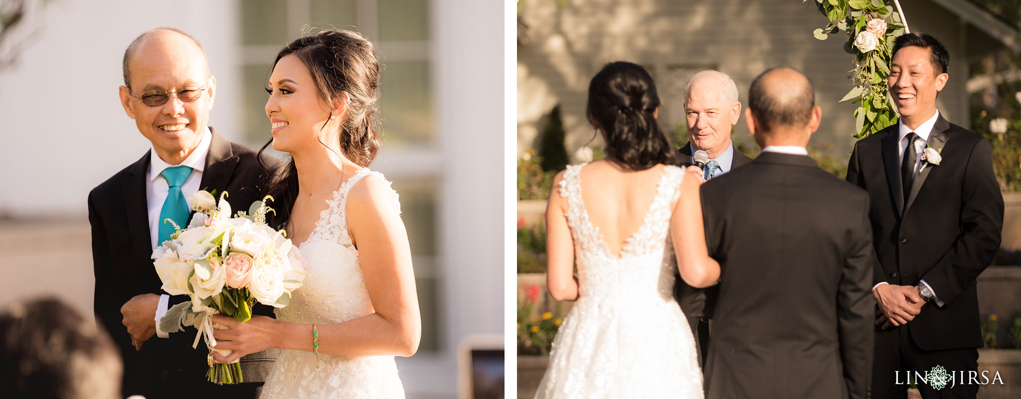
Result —
<instances>
[{"instance_id":1,"label":"smiling man in black suit and tie, hands clasped, beside garland","mask_svg":"<svg viewBox=\"0 0 1021 399\"><path fill-rule=\"evenodd\" d=\"M901 118L856 143L847 164L847 182L869 192L880 262L872 397L904 398L909 372L938 366L957 381L942 389L919 381L922 397L974 398L978 385L967 375L978 369L982 346L975 279L1000 248L1004 223L992 147L936 110L950 79L938 41L903 35L890 63Z\"/></svg>"}]
</instances>

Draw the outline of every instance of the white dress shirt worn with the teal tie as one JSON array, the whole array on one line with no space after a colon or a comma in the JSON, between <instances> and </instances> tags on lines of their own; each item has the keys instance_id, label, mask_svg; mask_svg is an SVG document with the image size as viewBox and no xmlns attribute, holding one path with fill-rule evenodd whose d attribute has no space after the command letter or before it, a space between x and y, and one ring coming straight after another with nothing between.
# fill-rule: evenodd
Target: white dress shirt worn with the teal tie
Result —
<instances>
[{"instance_id":1,"label":"white dress shirt worn with the teal tie","mask_svg":"<svg viewBox=\"0 0 1021 399\"><path fill-rule=\"evenodd\" d=\"M189 197L200 190L198 186L202 182L202 170L205 169L205 156L209 153L209 144L211 142L212 133L209 131L209 128L206 128L202 134L202 141L198 143L198 147L179 165L166 163L159 155L156 155L155 147L150 148L149 170L145 176L145 199L149 210L149 237L153 250L160 244L156 242L159 239L159 213L163 209L163 201L166 200L166 193L171 190L171 187L166 184L166 180L159 176L159 173L162 173L163 169L171 166L184 165L191 167L191 174L188 176L185 184L181 185L181 193L184 194L185 201L188 201ZM191 208L190 203L188 204L188 208ZM181 228L184 229L186 226L182 226ZM156 336L159 338L169 337L167 333L159 330L159 319L166 313L166 305L169 298L169 295L160 295L159 305L156 306Z\"/></svg>"}]
</instances>

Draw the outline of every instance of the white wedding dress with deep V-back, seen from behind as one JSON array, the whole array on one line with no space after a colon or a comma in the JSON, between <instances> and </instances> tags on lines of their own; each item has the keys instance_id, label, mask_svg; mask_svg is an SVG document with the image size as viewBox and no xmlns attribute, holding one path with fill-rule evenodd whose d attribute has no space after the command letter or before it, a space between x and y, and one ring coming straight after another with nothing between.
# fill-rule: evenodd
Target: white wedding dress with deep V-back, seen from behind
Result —
<instances>
[{"instance_id":1,"label":"white wedding dress with deep V-back, seen from behind","mask_svg":"<svg viewBox=\"0 0 1021 399\"><path fill-rule=\"evenodd\" d=\"M701 398L694 339L673 291L670 216L683 169L665 168L642 226L615 257L582 202L582 166L568 166L560 185L579 298L556 335L536 398Z\"/></svg>"}]
</instances>

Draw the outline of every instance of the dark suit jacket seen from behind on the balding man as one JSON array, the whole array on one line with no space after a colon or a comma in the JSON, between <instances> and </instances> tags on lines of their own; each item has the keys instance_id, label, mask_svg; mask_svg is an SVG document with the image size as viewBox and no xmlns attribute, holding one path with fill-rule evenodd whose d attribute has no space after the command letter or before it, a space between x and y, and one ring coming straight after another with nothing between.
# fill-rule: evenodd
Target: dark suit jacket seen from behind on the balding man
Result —
<instances>
[{"instance_id":1,"label":"dark suit jacket seen from behind on the balding man","mask_svg":"<svg viewBox=\"0 0 1021 399\"><path fill-rule=\"evenodd\" d=\"M701 187L722 271L707 397L865 398L875 319L868 195L808 156L769 152Z\"/></svg>"}]
</instances>

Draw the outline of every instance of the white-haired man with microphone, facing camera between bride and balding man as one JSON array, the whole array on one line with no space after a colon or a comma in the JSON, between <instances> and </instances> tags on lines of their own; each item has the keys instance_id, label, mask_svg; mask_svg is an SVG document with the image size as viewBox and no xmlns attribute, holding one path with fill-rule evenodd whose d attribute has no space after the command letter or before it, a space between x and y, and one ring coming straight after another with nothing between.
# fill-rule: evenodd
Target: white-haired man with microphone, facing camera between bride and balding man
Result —
<instances>
[{"instance_id":1,"label":"white-haired man with microphone, facing camera between bride and balding man","mask_svg":"<svg viewBox=\"0 0 1021 399\"><path fill-rule=\"evenodd\" d=\"M684 87L684 113L688 144L678 150L678 166L690 166L691 155L698 150L709 155L710 160L702 170L702 178L707 180L751 162L751 158L734 149L730 140L731 129L741 117L741 102L737 85L726 73L711 69L691 77ZM698 343L695 349L699 364L704 364L710 345L709 316L717 289L693 288L685 284L680 275L676 276L676 281L674 297Z\"/></svg>"}]
</instances>

